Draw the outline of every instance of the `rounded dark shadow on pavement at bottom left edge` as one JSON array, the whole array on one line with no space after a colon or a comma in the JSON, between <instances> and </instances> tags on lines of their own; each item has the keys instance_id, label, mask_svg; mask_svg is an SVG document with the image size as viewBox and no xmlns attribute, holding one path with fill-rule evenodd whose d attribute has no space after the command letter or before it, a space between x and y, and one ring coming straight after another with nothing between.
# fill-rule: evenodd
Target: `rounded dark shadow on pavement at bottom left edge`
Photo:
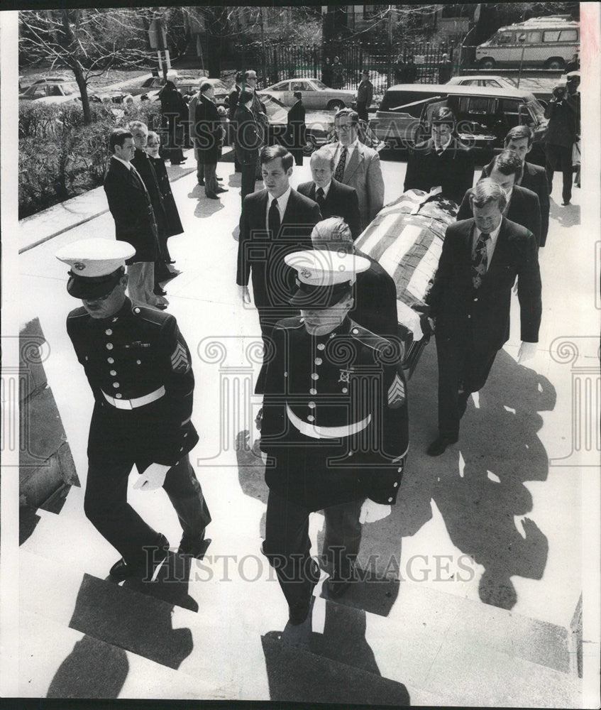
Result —
<instances>
[{"instance_id":1,"label":"rounded dark shadow on pavement at bottom left edge","mask_svg":"<svg viewBox=\"0 0 601 710\"><path fill-rule=\"evenodd\" d=\"M116 698L128 672L129 662L122 648L84 636L61 663L46 697Z\"/></svg>"}]
</instances>

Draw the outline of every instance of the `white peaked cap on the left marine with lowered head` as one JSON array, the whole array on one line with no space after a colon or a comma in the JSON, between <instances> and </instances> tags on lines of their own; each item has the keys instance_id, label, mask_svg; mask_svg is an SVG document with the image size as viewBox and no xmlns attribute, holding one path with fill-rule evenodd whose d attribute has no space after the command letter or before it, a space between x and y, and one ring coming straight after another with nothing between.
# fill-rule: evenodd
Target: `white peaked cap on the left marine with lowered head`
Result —
<instances>
[{"instance_id":1,"label":"white peaked cap on the left marine with lowered head","mask_svg":"<svg viewBox=\"0 0 601 710\"><path fill-rule=\"evenodd\" d=\"M71 267L67 291L72 296L99 298L115 288L126 259L135 253L126 241L80 239L59 249L56 258Z\"/></svg>"}]
</instances>

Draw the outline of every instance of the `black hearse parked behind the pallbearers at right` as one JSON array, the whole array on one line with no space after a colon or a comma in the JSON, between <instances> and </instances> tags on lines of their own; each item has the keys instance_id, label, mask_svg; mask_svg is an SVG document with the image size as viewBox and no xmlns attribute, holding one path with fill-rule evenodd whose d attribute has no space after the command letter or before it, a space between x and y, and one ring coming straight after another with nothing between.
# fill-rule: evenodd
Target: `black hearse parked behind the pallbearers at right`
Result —
<instances>
[{"instance_id":1,"label":"black hearse parked behind the pallbearers at right","mask_svg":"<svg viewBox=\"0 0 601 710\"><path fill-rule=\"evenodd\" d=\"M544 109L531 93L453 84L390 87L370 127L388 148L408 148L429 136L429 118L441 105L453 110L461 140L485 155L502 150L503 138L514 126L530 126L536 143L546 131Z\"/></svg>"}]
</instances>

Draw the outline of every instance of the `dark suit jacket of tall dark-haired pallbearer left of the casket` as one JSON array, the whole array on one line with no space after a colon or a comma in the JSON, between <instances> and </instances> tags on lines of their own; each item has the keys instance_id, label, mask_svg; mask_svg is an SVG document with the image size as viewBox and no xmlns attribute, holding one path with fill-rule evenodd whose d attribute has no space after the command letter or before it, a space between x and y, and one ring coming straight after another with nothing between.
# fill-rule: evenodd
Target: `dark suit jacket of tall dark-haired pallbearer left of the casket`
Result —
<instances>
[{"instance_id":1,"label":"dark suit jacket of tall dark-haired pallbearer left of the casket","mask_svg":"<svg viewBox=\"0 0 601 710\"><path fill-rule=\"evenodd\" d=\"M297 309L290 307L288 299L294 292L295 272L284 263L284 257L292 251L311 249L311 231L321 220L321 212L316 202L292 189L280 232L272 236L266 227L268 199L267 190L244 198L236 283L248 285L252 273L257 307L275 306L294 312Z\"/></svg>"}]
</instances>

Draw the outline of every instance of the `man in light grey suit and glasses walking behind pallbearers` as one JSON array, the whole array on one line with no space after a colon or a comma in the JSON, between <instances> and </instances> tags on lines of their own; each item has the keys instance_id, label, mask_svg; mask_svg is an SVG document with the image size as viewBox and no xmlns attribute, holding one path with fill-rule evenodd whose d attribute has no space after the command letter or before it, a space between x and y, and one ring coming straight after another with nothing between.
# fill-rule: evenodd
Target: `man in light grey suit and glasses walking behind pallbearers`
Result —
<instances>
[{"instance_id":1,"label":"man in light grey suit and glasses walking behind pallbearers","mask_svg":"<svg viewBox=\"0 0 601 710\"><path fill-rule=\"evenodd\" d=\"M357 111L340 109L334 116L338 141L324 147L333 155L334 178L355 188L361 229L365 229L384 204L384 179L377 151L359 141L358 122Z\"/></svg>"}]
</instances>

